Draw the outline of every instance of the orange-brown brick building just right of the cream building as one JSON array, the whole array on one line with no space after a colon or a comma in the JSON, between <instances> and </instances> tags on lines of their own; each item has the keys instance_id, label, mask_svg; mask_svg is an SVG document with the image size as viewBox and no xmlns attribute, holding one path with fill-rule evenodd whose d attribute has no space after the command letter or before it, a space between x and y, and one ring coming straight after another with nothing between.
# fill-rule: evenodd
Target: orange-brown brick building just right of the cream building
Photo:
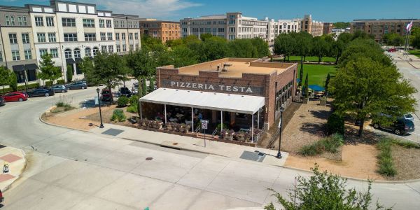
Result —
<instances>
[{"instance_id":1,"label":"orange-brown brick building just right of the cream building","mask_svg":"<svg viewBox=\"0 0 420 210\"><path fill-rule=\"evenodd\" d=\"M140 19L141 34L159 38L162 43L168 40L181 38L181 29L179 22Z\"/></svg>"}]
</instances>

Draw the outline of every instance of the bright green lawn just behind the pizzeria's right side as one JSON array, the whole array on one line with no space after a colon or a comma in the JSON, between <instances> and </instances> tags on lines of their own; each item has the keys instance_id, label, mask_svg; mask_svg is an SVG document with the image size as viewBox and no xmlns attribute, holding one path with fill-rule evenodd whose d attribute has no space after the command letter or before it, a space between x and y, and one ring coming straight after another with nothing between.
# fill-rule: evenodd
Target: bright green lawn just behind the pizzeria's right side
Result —
<instances>
[{"instance_id":1,"label":"bright green lawn just behind the pizzeria's right side","mask_svg":"<svg viewBox=\"0 0 420 210\"><path fill-rule=\"evenodd\" d=\"M299 72L297 73L297 78L299 78L300 73L300 64L298 66ZM306 78L306 74L308 74L308 84L309 85L319 85L323 87L325 85L325 79L327 78L328 73L330 76L333 77L335 75L335 71L337 71L337 66L332 65L321 65L321 64L303 64L303 81L302 85L304 85L304 79Z\"/></svg>"}]
</instances>

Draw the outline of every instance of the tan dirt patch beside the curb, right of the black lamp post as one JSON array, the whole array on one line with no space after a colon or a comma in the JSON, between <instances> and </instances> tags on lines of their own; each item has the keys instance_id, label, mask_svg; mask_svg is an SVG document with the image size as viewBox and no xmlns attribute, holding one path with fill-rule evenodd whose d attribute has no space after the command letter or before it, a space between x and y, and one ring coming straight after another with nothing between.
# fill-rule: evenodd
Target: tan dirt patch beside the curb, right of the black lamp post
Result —
<instances>
[{"instance_id":1,"label":"tan dirt patch beside the curb, right of the black lamp post","mask_svg":"<svg viewBox=\"0 0 420 210\"><path fill-rule=\"evenodd\" d=\"M358 179L384 180L377 174L377 148L369 144L342 146L342 161L329 160L321 157L304 158L289 155L285 165L300 169L311 169L318 163L319 169L327 170L332 174L349 176Z\"/></svg>"}]
</instances>

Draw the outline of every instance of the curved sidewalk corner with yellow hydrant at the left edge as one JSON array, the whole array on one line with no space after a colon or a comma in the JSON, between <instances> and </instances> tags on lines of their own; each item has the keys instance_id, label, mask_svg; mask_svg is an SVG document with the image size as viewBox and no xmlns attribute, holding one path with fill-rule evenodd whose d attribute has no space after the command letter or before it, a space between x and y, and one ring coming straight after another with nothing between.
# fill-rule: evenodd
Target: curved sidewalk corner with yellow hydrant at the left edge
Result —
<instances>
[{"instance_id":1,"label":"curved sidewalk corner with yellow hydrant at the left edge","mask_svg":"<svg viewBox=\"0 0 420 210\"><path fill-rule=\"evenodd\" d=\"M4 192L25 170L25 153L21 149L9 146L0 148L0 164L0 189ZM8 165L8 172L3 171L5 164Z\"/></svg>"}]
</instances>

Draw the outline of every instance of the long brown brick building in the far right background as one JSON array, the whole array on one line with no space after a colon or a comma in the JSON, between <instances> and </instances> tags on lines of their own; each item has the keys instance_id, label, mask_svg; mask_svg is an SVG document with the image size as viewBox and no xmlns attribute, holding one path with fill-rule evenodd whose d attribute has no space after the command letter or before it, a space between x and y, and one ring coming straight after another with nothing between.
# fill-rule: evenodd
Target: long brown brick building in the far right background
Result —
<instances>
[{"instance_id":1,"label":"long brown brick building in the far right background","mask_svg":"<svg viewBox=\"0 0 420 210\"><path fill-rule=\"evenodd\" d=\"M405 35L407 33L405 27L411 21L413 21L413 26L420 27L420 19L353 20L350 23L350 32L365 31L379 42L384 38L384 34Z\"/></svg>"}]
</instances>

